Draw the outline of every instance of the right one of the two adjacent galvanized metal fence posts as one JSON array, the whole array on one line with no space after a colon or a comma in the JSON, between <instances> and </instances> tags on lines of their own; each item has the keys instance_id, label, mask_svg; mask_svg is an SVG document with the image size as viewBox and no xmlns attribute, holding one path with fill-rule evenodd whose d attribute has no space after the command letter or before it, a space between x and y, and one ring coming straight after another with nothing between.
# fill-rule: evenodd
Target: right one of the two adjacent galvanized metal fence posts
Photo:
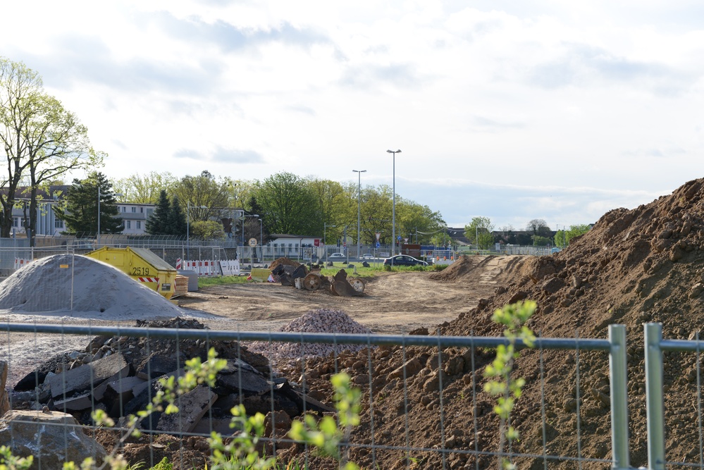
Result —
<instances>
[{"instance_id":1,"label":"right one of the two adjacent galvanized metal fence posts","mask_svg":"<svg viewBox=\"0 0 704 470\"><path fill-rule=\"evenodd\" d=\"M665 470L665 405L662 396L662 324L643 326L646 347L646 416L648 419L648 469Z\"/></svg>"}]
</instances>

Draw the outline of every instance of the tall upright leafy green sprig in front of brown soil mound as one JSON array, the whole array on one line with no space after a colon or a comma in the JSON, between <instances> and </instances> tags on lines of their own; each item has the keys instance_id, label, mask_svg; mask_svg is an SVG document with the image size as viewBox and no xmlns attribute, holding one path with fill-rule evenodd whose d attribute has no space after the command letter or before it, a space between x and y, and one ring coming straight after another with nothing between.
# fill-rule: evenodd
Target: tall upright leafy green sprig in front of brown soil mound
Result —
<instances>
[{"instance_id":1,"label":"tall upright leafy green sprig in front of brown soil mound","mask_svg":"<svg viewBox=\"0 0 704 470\"><path fill-rule=\"evenodd\" d=\"M505 327L504 336L508 340L507 345L499 345L496 348L495 359L484 371L484 376L491 379L484 385L484 390L497 397L494 412L500 418L500 455L504 451L505 443L519 438L518 431L510 426L510 416L516 400L521 397L526 381L524 378L512 378L511 373L519 357L517 343L522 341L527 347L533 347L536 340L531 329L526 326L535 311L536 302L526 300L505 305L502 309L497 309L491 317L492 321ZM499 468L514 469L514 466L509 459L501 457Z\"/></svg>"}]
</instances>

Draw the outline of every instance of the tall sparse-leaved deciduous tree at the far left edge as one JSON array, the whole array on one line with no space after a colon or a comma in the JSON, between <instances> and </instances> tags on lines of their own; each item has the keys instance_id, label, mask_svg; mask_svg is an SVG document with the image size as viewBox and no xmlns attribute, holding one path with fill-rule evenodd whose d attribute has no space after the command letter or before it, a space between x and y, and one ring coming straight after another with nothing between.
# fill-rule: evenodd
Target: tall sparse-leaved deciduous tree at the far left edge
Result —
<instances>
[{"instance_id":1,"label":"tall sparse-leaved deciduous tree at the far left edge","mask_svg":"<svg viewBox=\"0 0 704 470\"><path fill-rule=\"evenodd\" d=\"M0 236L9 236L16 190L26 176L30 193L27 235L33 245L38 190L69 171L99 166L104 155L90 147L87 129L77 116L44 93L35 71L5 58L0 58L0 140L8 163L7 179L1 182L7 193L0 196L4 209Z\"/></svg>"}]
</instances>

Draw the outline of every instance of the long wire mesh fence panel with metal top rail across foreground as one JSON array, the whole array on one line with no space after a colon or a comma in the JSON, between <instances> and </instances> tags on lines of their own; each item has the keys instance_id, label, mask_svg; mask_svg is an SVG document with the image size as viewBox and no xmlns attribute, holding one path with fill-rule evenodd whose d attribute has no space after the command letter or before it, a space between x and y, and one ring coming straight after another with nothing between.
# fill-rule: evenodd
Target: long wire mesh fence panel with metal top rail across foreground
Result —
<instances>
[{"instance_id":1,"label":"long wire mesh fence panel with metal top rail across foreground","mask_svg":"<svg viewBox=\"0 0 704 470\"><path fill-rule=\"evenodd\" d=\"M202 469L209 453L206 438L211 431L231 435L230 409L242 404L247 414L266 415L261 450L276 455L282 468L291 462L299 468L336 468L292 440L288 430L304 414L316 419L334 415L330 380L344 371L362 392L362 411L360 426L342 440L340 450L362 468L486 469L495 467L500 457L518 468L628 468L626 381L619 369L626 345L619 326L610 327L610 340L538 338L532 350L524 349L518 373L528 364L540 366L525 377L524 396L511 418L521 440L503 448L498 445L495 401L483 391L483 371L495 348L507 344L505 338L208 330L187 319L137 327L3 323L0 330L0 360L9 364L8 383L13 386L9 407L66 413L77 421L47 424L64 436L58 457L73 456L69 450L80 447L70 440L78 432L70 426L80 426L108 452L116 448L132 464L142 460L149 468L167 457L174 468ZM27 348L43 345L52 346L51 361L23 360ZM140 423L142 438L121 440L129 433L125 416L144 410L163 392L155 379L184 376L186 361L205 360L211 347L226 359L214 385L199 385L181 396L178 414L149 414ZM564 361L565 354L572 359L564 378L546 381L544 364ZM604 404L616 416L611 428L603 416L581 412L580 354L611 363L607 383L612 401L607 397ZM574 403L555 403L556 391L564 388L574 392ZM110 416L115 428L98 426L93 417L97 410ZM23 416L16 429L34 426L36 416ZM524 426L531 416L540 416L538 427ZM583 454L583 443L603 440L604 429L605 435L612 434L606 447L613 457L608 452ZM37 452L35 458L42 468L60 468L53 466L56 455Z\"/></svg>"}]
</instances>

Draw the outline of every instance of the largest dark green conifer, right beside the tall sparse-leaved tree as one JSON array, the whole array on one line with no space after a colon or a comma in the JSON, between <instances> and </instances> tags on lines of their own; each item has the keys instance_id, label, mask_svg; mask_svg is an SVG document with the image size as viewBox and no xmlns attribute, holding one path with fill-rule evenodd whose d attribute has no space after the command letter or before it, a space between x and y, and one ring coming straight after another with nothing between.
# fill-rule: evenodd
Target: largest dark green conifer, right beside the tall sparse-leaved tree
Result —
<instances>
[{"instance_id":1,"label":"largest dark green conifer, right beside the tall sparse-leaved tree","mask_svg":"<svg viewBox=\"0 0 704 470\"><path fill-rule=\"evenodd\" d=\"M98 215L98 198L100 215ZM102 173L93 172L85 180L73 180L68 189L65 207L56 211L56 217L66 223L71 234L80 233L122 233L122 218L118 217L115 194ZM98 223L100 217L100 223Z\"/></svg>"}]
</instances>

